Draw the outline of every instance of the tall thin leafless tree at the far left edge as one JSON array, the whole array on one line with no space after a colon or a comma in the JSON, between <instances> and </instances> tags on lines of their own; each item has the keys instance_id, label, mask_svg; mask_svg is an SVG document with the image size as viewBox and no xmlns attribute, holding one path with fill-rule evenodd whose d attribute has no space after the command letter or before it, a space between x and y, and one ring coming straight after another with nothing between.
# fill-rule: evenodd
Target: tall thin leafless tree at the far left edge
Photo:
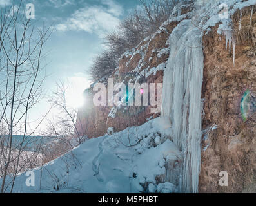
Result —
<instances>
[{"instance_id":1,"label":"tall thin leafless tree at the far left edge","mask_svg":"<svg viewBox=\"0 0 256 206\"><path fill-rule=\"evenodd\" d=\"M45 76L41 75L41 62L49 29L43 26L36 30L30 19L26 19L23 6L20 1L18 6L6 7L0 16L0 124L4 128L1 136L5 136L0 148L3 157L0 160L3 161L1 192L5 192L9 185L12 185L12 192L15 176L21 169L19 162L26 139L34 133L34 129L28 131L28 115L43 97ZM15 145L14 135L17 133L22 133L23 138ZM6 185L6 176L10 172L13 172L13 179Z\"/></svg>"}]
</instances>

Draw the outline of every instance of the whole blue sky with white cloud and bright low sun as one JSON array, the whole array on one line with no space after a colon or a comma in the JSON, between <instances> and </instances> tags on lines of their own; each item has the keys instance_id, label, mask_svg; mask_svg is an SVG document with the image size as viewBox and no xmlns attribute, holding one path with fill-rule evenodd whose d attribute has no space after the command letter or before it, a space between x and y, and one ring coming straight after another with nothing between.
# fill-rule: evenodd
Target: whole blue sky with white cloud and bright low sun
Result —
<instances>
[{"instance_id":1,"label":"whole blue sky with white cloud and bright low sun","mask_svg":"<svg viewBox=\"0 0 256 206\"><path fill-rule=\"evenodd\" d=\"M56 82L64 80L70 85L67 95L70 104L81 105L84 89L92 84L88 68L93 57L104 48L104 35L114 30L139 5L139 0L23 0L23 3L34 4L35 26L52 25L53 32L44 45L44 52L48 53L46 97L54 91ZM0 0L1 8L11 4L12 0ZM44 99L32 109L30 119L40 120L48 108ZM50 115L54 117L56 113ZM41 129L44 127L42 124Z\"/></svg>"}]
</instances>

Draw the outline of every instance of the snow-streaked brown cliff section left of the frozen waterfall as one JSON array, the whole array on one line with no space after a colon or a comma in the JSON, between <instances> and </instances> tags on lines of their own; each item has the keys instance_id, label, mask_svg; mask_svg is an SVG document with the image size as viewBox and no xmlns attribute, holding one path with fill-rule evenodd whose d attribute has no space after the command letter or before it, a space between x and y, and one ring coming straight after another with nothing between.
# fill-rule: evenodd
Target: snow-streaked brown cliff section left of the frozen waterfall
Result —
<instances>
[{"instance_id":1,"label":"snow-streaked brown cliff section left of the frozen waterfall","mask_svg":"<svg viewBox=\"0 0 256 206\"><path fill-rule=\"evenodd\" d=\"M169 44L167 43L170 32L178 22L166 26L166 30L144 39L133 50L130 50L119 59L119 67L113 72L113 84L128 82L146 84L155 83L155 97L157 97L157 84L162 83L164 68L169 57ZM107 84L107 79L99 82ZM80 133L88 138L103 136L109 127L114 131L122 131L129 126L140 126L147 119L159 117L159 113L151 113L152 106L94 106L92 98L95 94L92 85L84 91L86 103L79 109L77 127ZM156 99L155 99L156 100ZM143 105L143 102L141 102Z\"/></svg>"}]
</instances>

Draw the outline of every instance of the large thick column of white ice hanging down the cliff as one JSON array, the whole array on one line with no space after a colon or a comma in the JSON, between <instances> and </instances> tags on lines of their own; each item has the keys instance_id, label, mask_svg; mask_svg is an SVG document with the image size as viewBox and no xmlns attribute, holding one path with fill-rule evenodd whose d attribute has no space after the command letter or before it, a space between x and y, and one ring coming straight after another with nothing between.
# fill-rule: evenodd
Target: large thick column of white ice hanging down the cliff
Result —
<instances>
[{"instance_id":1,"label":"large thick column of white ice hanging down the cliff","mask_svg":"<svg viewBox=\"0 0 256 206\"><path fill-rule=\"evenodd\" d=\"M184 20L173 30L169 41L161 116L170 117L172 140L184 154L181 191L198 192L204 67L202 33L190 20Z\"/></svg>"}]
</instances>

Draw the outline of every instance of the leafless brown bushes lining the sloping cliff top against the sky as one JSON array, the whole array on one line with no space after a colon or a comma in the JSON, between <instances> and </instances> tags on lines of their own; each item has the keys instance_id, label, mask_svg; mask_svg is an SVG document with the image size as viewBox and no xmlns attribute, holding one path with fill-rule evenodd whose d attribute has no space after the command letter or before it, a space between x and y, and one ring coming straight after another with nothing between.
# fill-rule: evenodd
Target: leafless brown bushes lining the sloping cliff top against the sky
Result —
<instances>
[{"instance_id":1,"label":"leafless brown bushes lining the sloping cliff top against the sky","mask_svg":"<svg viewBox=\"0 0 256 206\"><path fill-rule=\"evenodd\" d=\"M140 0L141 6L123 19L119 27L106 35L107 50L95 57L90 73L97 81L108 77L118 66L118 59L127 50L135 48L144 38L157 30L167 32L162 26L168 21L173 8L183 2L177 0ZM168 33L169 34L169 33Z\"/></svg>"}]
</instances>

